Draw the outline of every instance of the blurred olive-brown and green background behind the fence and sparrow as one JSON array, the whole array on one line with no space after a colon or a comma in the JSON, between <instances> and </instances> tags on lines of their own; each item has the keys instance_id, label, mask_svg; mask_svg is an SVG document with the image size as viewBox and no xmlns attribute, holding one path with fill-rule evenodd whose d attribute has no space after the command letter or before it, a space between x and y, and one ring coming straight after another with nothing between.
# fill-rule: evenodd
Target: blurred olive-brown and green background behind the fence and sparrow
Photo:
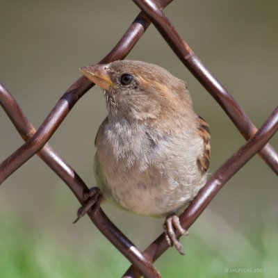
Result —
<instances>
[{"instance_id":1,"label":"blurred olive-brown and green background behind the fence and sparrow","mask_svg":"<svg viewBox=\"0 0 278 278\"><path fill-rule=\"evenodd\" d=\"M202 62L261 126L277 106L277 1L173 1L165 13ZM0 9L0 82L38 127L63 92L114 47L139 10L132 1L6 1ZM188 82L195 111L211 125L213 173L244 144L234 124L188 72L154 26L131 54ZM90 90L50 145L95 186L94 139L106 105ZM0 109L0 161L22 139ZM271 140L278 149L278 137ZM277 277L277 176L252 158L182 238L186 256L169 250L156 263L163 277ZM72 224L79 203L56 174L33 157L0 188L0 277L120 277L127 261L87 217ZM104 211L144 249L163 220ZM144 231L144 232L142 232ZM235 269L235 270L233 270ZM240 272L250 269L250 272ZM256 273L254 273L257 270ZM82 276L81 276L82 275Z\"/></svg>"}]
</instances>

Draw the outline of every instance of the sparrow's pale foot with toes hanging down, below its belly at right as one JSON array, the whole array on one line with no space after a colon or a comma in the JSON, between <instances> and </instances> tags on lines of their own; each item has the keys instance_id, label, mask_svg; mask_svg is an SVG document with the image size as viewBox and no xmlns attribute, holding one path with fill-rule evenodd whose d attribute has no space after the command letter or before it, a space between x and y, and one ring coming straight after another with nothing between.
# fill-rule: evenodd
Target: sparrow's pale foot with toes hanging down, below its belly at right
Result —
<instances>
[{"instance_id":1,"label":"sparrow's pale foot with toes hanging down, below its belly at right","mask_svg":"<svg viewBox=\"0 0 278 278\"><path fill-rule=\"evenodd\" d=\"M179 236L187 236L188 231L183 229L179 217L174 213L168 215L164 223L165 238L170 246L176 247L179 254L184 255L183 246L179 242Z\"/></svg>"}]
</instances>

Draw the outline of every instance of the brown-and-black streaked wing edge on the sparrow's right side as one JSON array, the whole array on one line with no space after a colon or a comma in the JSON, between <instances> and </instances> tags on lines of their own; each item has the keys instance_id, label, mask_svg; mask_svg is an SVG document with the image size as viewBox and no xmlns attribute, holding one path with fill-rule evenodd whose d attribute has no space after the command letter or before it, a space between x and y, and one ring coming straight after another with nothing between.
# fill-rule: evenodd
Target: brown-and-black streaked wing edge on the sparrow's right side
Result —
<instances>
[{"instance_id":1,"label":"brown-and-black streaked wing edge on the sparrow's right side","mask_svg":"<svg viewBox=\"0 0 278 278\"><path fill-rule=\"evenodd\" d=\"M201 136L204 140L204 152L202 156L199 156L197 158L197 164L200 170L205 173L208 171L209 162L211 158L211 145L209 142L211 134L209 132L208 123L202 117L199 117L198 133L199 136Z\"/></svg>"}]
</instances>

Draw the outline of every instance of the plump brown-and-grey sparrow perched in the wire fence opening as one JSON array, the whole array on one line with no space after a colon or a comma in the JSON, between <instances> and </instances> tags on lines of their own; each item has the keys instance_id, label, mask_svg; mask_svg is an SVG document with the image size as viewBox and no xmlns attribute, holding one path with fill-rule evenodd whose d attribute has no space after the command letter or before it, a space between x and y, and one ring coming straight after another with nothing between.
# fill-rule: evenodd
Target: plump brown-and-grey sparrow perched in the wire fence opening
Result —
<instances>
[{"instance_id":1,"label":"plump brown-and-grey sparrow perched in the wire fence opening","mask_svg":"<svg viewBox=\"0 0 278 278\"><path fill-rule=\"evenodd\" d=\"M82 67L104 89L108 117L97 132L95 176L103 198L140 215L165 216L167 242L183 254L180 213L206 183L208 124L185 82L134 60ZM88 196L87 196L88 197ZM90 208L79 210L79 218Z\"/></svg>"}]
</instances>

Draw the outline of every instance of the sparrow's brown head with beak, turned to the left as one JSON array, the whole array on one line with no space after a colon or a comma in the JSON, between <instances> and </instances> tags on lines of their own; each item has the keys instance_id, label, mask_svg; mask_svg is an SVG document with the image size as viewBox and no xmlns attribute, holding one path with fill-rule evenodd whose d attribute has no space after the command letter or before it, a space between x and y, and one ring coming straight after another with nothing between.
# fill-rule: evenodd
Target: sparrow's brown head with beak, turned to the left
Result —
<instances>
[{"instance_id":1,"label":"sparrow's brown head with beak, turned to the left","mask_svg":"<svg viewBox=\"0 0 278 278\"><path fill-rule=\"evenodd\" d=\"M118 60L80 70L104 89L109 117L152 121L192 110L186 83L158 65Z\"/></svg>"}]
</instances>

